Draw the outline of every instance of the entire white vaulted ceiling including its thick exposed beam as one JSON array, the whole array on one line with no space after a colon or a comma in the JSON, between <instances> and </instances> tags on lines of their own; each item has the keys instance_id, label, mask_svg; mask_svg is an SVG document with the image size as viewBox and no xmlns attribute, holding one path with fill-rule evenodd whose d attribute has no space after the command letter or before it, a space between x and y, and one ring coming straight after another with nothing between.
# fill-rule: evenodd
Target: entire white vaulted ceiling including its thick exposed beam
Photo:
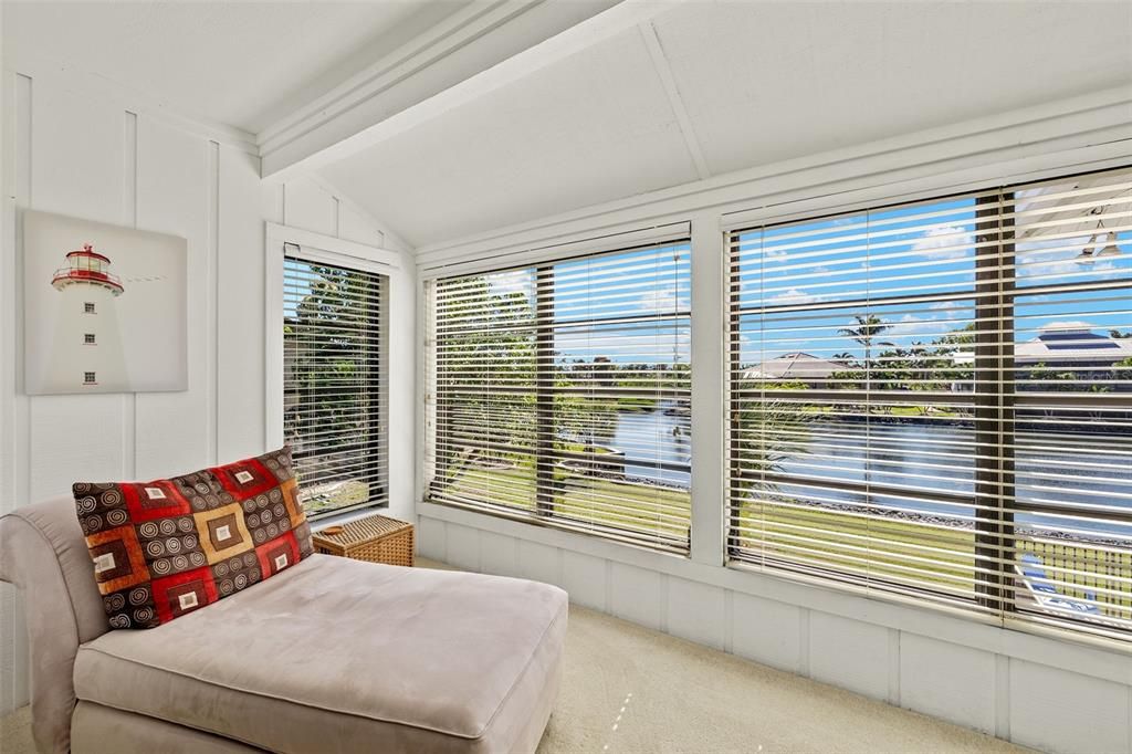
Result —
<instances>
[{"instance_id":1,"label":"entire white vaulted ceiling including its thick exposed beam","mask_svg":"<svg viewBox=\"0 0 1132 754\"><path fill-rule=\"evenodd\" d=\"M255 134L435 246L1132 85L1132 1L2 5L49 60Z\"/></svg>"}]
</instances>

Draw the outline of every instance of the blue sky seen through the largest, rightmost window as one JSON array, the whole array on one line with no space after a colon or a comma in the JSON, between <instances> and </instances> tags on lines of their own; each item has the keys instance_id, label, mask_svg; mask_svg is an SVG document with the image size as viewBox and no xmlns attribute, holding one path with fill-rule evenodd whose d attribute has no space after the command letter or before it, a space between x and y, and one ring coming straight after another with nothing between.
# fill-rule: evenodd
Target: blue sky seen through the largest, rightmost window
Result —
<instances>
[{"instance_id":1,"label":"blue sky seen through the largest, rightmost window","mask_svg":"<svg viewBox=\"0 0 1132 754\"><path fill-rule=\"evenodd\" d=\"M1127 226L1126 219L1121 222L1125 225L1109 228ZM890 323L892 327L877 340L900 348L916 341L931 343L962 329L975 318L975 298L970 295L975 285L975 203L964 198L743 234L743 306L823 308L746 315L740 322L740 360L757 363L792 351L822 358L852 353L859 359L860 344L838 333L852 325L855 314L873 314ZM1123 251L1121 256L1080 264L1077 258L1089 245L1089 233L1072 238L1038 234L1015 248L1018 286L1132 277L1132 245L1127 237L1127 231L1122 230L1114 238ZM824 308L838 301L875 301L908 290L954 298ZM1132 289L1019 295L1017 339L1030 340L1043 326L1069 322L1086 323L1099 333L1132 329L1130 297Z\"/></svg>"}]
</instances>

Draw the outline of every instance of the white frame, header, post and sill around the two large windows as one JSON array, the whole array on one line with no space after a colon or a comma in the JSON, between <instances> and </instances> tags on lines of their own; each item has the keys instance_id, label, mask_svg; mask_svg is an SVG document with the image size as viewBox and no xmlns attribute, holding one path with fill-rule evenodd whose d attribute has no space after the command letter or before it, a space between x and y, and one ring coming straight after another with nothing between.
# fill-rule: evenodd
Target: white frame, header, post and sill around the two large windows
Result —
<instances>
[{"instance_id":1,"label":"white frame, header, post and sill around the two large windows","mask_svg":"<svg viewBox=\"0 0 1132 754\"><path fill-rule=\"evenodd\" d=\"M864 146L754 168L672 189L618 199L558 216L423 247L417 251L418 323L428 312L423 279L451 262L478 255L539 249L595 235L692 223L693 291L693 477L692 557L674 558L616 542L548 528L529 526L475 512L424 502L427 432L423 411L423 355L418 361L417 513L426 523L465 526L514 537L582 557L652 571L815 609L837 616L932 636L1001 654L1039 660L1053 667L1112 680L1126 678L1129 663L1098 661L1094 648L1120 649L1126 642L1035 625L1003 629L970 614L924 608L915 599L880 601L864 591L833 588L805 576L753 573L723 563L723 385L727 319L724 292L726 231L757 223L788 222L833 214L854 206L899 204L942 194L978 190L996 183L1037 181L1074 172L1129 164L1132 134L1126 89L1109 89L1052 102L1003 115L932 129ZM597 250L597 249L595 249ZM712 303L714 302L714 303ZM418 331L418 353L423 337Z\"/></svg>"}]
</instances>

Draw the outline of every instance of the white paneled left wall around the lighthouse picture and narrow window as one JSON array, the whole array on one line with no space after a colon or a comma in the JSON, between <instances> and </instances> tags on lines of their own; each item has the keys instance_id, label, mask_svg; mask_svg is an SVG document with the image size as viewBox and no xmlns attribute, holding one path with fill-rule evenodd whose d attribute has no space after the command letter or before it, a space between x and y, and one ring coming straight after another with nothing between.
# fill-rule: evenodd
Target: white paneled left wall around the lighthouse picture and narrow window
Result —
<instances>
[{"instance_id":1,"label":"white paneled left wall around the lighthouse picture and narrow window","mask_svg":"<svg viewBox=\"0 0 1132 754\"><path fill-rule=\"evenodd\" d=\"M3 71L0 214L0 514L80 479L152 479L261 453L265 220L409 254L332 189L269 186L223 129L91 88L79 72ZM188 239L189 388L138 395L23 393L19 219L25 208ZM415 267L391 280L391 511L413 508ZM398 365L401 365L398 367ZM401 466L405 471L396 473ZM0 713L27 701L18 598L0 584Z\"/></svg>"}]
</instances>

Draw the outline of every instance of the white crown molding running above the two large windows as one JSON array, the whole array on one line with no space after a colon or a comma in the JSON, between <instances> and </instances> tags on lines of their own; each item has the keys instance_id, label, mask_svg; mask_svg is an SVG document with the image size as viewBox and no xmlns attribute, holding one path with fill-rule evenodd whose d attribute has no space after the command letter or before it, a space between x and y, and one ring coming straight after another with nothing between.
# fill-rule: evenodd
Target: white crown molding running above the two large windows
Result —
<instances>
[{"instance_id":1,"label":"white crown molding running above the two large windows","mask_svg":"<svg viewBox=\"0 0 1132 754\"><path fill-rule=\"evenodd\" d=\"M692 213L781 215L794 205L830 205L850 191L894 196L1095 161L1132 162L1132 86L1044 103L865 145L735 171L484 233L421 246L418 264L542 246L585 230L594 235L669 222ZM958 188L955 188L958 190ZM859 199L860 197L854 197ZM736 217L729 217L732 226Z\"/></svg>"}]
</instances>

